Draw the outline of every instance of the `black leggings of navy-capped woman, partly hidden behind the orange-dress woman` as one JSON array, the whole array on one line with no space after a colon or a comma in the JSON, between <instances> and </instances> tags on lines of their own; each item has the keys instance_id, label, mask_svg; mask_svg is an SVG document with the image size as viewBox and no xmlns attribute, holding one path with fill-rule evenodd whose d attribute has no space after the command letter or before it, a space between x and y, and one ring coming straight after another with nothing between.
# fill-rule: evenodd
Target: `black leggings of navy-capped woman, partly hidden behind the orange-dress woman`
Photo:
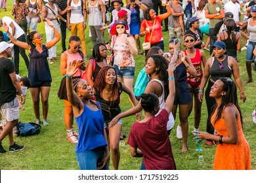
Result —
<instances>
[{"instance_id":1,"label":"black leggings of navy-capped woman, partly hidden behind the orange-dress woman","mask_svg":"<svg viewBox=\"0 0 256 183\"><path fill-rule=\"evenodd\" d=\"M208 112L208 118L207 118L207 125L206 125L206 131L208 133L213 134L214 133L214 128L213 125L211 125L211 112L212 112L212 108L213 106L216 104L216 101L213 97L209 97L209 93L211 91L211 86L213 86L213 82L211 82L211 80L208 81L208 86L205 90L205 101L206 101L206 105L207 105L207 112Z\"/></svg>"}]
</instances>

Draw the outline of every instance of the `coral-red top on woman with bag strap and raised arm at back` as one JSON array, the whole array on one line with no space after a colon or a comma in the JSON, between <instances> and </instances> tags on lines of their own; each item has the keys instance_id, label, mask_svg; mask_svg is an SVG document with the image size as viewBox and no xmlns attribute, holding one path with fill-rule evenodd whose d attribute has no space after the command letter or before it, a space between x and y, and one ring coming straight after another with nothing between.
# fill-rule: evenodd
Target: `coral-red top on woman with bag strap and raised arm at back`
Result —
<instances>
[{"instance_id":1,"label":"coral-red top on woman with bag strap and raised arm at back","mask_svg":"<svg viewBox=\"0 0 256 183\"><path fill-rule=\"evenodd\" d=\"M149 42L150 41L150 37L151 37L151 33L152 33L152 29L153 29L153 22L148 22L147 20L143 20L141 23L141 27L144 27L145 29L148 27L150 29L150 33L145 35L145 41L144 42ZM150 41L150 43L154 44L157 42L160 42L163 40L163 35L161 33L161 19L159 18L159 16L156 16L156 22L154 25L154 31L152 33L152 39Z\"/></svg>"}]
</instances>

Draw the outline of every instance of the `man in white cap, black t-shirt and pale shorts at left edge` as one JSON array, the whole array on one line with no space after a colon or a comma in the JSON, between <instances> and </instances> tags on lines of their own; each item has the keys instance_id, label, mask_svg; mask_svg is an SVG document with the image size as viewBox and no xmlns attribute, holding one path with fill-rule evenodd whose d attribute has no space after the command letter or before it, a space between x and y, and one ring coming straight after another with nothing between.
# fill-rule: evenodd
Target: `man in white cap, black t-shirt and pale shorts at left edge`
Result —
<instances>
[{"instance_id":1,"label":"man in white cap, black t-shirt and pale shorts at left edge","mask_svg":"<svg viewBox=\"0 0 256 183\"><path fill-rule=\"evenodd\" d=\"M0 42L0 113L7 121L5 128L0 134L0 153L7 152L2 141L9 135L9 152L23 150L24 146L19 146L13 140L12 129L18 124L19 107L16 99L17 95L22 95L20 84L16 78L15 68L8 58L12 56L13 44L5 41Z\"/></svg>"}]
</instances>

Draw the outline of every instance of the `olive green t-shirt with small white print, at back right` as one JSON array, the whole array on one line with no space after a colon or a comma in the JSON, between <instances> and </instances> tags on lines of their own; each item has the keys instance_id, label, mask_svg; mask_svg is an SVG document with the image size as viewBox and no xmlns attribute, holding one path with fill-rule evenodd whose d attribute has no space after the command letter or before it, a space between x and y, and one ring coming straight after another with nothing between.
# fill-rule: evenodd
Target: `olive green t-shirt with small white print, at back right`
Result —
<instances>
[{"instance_id":1,"label":"olive green t-shirt with small white print, at back right","mask_svg":"<svg viewBox=\"0 0 256 183\"><path fill-rule=\"evenodd\" d=\"M205 10L209 11L209 14L216 14L216 13L221 13L221 9L223 9L223 5L221 3L215 2L215 5L212 5L211 3L207 3L204 7ZM220 22L222 19L221 18L209 18L210 20L210 29L213 29L215 24Z\"/></svg>"}]
</instances>

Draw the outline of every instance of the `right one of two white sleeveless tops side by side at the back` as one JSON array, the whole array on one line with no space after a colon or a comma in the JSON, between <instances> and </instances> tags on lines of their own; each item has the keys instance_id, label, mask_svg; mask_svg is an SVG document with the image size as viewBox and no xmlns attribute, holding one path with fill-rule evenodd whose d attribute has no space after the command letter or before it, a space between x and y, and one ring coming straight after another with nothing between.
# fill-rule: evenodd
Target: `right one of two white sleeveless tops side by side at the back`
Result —
<instances>
[{"instance_id":1,"label":"right one of two white sleeveless tops side by side at the back","mask_svg":"<svg viewBox=\"0 0 256 183\"><path fill-rule=\"evenodd\" d=\"M97 0L97 3L94 6L91 5L91 1L88 3L88 9L90 12L88 25L102 25L102 14L101 10L98 9L99 1L100 0Z\"/></svg>"}]
</instances>

